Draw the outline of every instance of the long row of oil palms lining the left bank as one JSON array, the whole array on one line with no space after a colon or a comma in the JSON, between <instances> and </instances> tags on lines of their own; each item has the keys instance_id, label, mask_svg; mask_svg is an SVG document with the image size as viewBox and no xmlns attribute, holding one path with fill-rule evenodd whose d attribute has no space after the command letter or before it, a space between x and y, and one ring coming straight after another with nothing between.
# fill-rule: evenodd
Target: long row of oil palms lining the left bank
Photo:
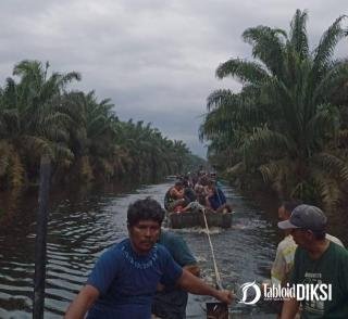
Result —
<instances>
[{"instance_id":1,"label":"long row of oil palms lining the left bank","mask_svg":"<svg viewBox=\"0 0 348 319\"><path fill-rule=\"evenodd\" d=\"M37 184L41 156L54 183L147 181L201 164L182 141L150 124L121 122L109 99L67 90L76 72L49 74L49 64L22 61L0 88L0 190Z\"/></svg>"}]
</instances>

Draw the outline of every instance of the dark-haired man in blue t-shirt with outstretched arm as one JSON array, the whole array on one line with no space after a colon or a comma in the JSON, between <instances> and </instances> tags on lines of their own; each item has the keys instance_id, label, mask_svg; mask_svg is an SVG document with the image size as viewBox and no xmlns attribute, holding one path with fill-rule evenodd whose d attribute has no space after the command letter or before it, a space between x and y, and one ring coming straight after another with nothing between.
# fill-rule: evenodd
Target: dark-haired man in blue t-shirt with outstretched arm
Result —
<instances>
[{"instance_id":1,"label":"dark-haired man in blue t-shirt with outstretched arm","mask_svg":"<svg viewBox=\"0 0 348 319\"><path fill-rule=\"evenodd\" d=\"M163 217L161 205L150 197L129 205L129 238L101 255L65 318L84 318L88 311L90 319L150 319L159 282L232 303L229 291L217 291L182 269L167 250L157 244Z\"/></svg>"}]
</instances>

